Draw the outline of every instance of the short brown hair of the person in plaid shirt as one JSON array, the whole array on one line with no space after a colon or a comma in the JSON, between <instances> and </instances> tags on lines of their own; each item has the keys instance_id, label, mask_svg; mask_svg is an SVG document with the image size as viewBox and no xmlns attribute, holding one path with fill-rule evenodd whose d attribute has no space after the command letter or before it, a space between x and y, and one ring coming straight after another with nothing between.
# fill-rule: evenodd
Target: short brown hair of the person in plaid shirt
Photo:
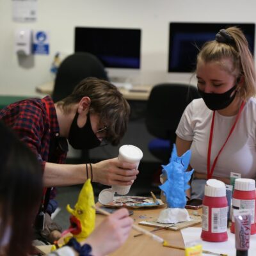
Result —
<instances>
[{"instance_id":1,"label":"short brown hair of the person in plaid shirt","mask_svg":"<svg viewBox=\"0 0 256 256\"><path fill-rule=\"evenodd\" d=\"M91 99L90 111L100 116L100 122L108 127L106 139L118 145L127 129L130 106L116 86L108 81L88 77L77 84L74 91L65 99L57 102L68 113L70 106L83 97Z\"/></svg>"}]
</instances>

